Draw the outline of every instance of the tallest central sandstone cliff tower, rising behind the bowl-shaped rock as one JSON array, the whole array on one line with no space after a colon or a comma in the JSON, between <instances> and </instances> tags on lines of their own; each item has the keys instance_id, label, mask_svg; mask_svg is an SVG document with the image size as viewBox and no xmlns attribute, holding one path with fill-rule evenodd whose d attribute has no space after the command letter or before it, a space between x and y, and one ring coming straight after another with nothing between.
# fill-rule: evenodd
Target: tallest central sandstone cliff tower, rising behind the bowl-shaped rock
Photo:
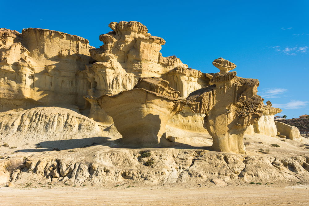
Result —
<instances>
[{"instance_id":1,"label":"tallest central sandstone cliff tower, rising behind the bowl-shaped rock","mask_svg":"<svg viewBox=\"0 0 309 206\"><path fill-rule=\"evenodd\" d=\"M97 62L87 65L86 68L91 89L85 98L91 103L91 118L112 124L104 109L99 109L93 99L131 90L142 77L161 77L184 98L190 92L209 85L205 74L188 68L179 58L162 57L160 50L165 40L151 36L143 24L133 21L112 22L109 27L112 32L100 35L104 44L90 50L91 57ZM175 119L179 118L182 116ZM190 117L186 119L190 120ZM170 121L169 124L182 126L174 122ZM202 128L202 125L199 124L199 127Z\"/></svg>"}]
</instances>

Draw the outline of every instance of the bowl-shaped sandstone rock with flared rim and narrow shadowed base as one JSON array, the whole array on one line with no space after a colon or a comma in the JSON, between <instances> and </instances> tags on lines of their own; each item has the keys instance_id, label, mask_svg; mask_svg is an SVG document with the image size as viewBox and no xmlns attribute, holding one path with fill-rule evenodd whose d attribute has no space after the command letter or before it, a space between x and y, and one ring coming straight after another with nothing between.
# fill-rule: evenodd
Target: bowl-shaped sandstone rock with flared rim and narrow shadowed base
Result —
<instances>
[{"instance_id":1,"label":"bowl-shaped sandstone rock with flared rim and narrow shadowed base","mask_svg":"<svg viewBox=\"0 0 309 206\"><path fill-rule=\"evenodd\" d=\"M123 144L135 147L171 145L166 138L165 126L186 102L177 99L179 92L167 84L161 78L141 78L132 90L97 99L113 118Z\"/></svg>"}]
</instances>

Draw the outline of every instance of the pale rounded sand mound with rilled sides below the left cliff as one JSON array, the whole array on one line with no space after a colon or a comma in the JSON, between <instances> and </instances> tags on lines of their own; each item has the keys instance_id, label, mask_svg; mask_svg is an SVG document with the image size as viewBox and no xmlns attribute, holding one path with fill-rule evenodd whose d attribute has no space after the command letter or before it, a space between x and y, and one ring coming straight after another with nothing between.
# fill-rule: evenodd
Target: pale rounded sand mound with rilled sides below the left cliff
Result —
<instances>
[{"instance_id":1,"label":"pale rounded sand mound with rilled sides below the left cliff","mask_svg":"<svg viewBox=\"0 0 309 206\"><path fill-rule=\"evenodd\" d=\"M90 143L100 141L104 137L102 129L86 116L61 107L36 107L0 113L1 143L14 146L26 143L43 147L66 147L68 144L81 146L81 143L89 142L89 138ZM69 141L74 139L84 140ZM59 144L60 141L62 144Z\"/></svg>"}]
</instances>

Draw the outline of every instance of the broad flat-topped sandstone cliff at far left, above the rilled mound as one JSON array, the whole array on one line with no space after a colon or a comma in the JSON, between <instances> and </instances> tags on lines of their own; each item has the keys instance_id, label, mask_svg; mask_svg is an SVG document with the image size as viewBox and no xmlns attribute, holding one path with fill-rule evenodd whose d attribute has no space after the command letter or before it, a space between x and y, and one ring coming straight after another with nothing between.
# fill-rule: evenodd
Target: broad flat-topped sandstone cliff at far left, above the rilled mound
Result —
<instances>
[{"instance_id":1,"label":"broad flat-topped sandstone cliff at far left, above the rilled mound","mask_svg":"<svg viewBox=\"0 0 309 206\"><path fill-rule=\"evenodd\" d=\"M78 105L90 83L88 40L45 29L0 29L0 111L37 105Z\"/></svg>"}]
</instances>

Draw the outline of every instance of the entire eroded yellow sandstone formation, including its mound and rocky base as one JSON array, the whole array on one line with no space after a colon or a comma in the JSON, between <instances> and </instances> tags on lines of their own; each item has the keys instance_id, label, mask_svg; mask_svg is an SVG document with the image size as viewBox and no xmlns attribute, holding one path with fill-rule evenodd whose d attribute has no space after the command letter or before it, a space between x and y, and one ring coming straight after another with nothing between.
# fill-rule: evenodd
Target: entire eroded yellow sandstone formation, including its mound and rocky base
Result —
<instances>
[{"instance_id":1,"label":"entire eroded yellow sandstone formation, including its mound and rocky base","mask_svg":"<svg viewBox=\"0 0 309 206\"><path fill-rule=\"evenodd\" d=\"M63 32L0 29L0 184L308 180L306 147L292 140L309 142L275 125L280 109L263 105L258 80L236 77L223 58L219 73L204 74L162 57L165 41L142 23L109 27L100 48ZM127 145L173 148L142 157Z\"/></svg>"}]
</instances>

